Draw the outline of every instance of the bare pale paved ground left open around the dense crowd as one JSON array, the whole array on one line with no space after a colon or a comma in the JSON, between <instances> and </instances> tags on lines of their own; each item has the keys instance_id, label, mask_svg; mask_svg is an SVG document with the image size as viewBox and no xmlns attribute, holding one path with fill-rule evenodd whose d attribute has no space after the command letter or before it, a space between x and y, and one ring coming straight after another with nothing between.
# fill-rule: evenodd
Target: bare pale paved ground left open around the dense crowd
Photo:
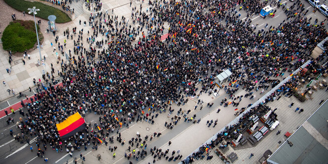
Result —
<instances>
[{"instance_id":1,"label":"bare pale paved ground left open around the dense crowd","mask_svg":"<svg viewBox=\"0 0 328 164\"><path fill-rule=\"evenodd\" d=\"M291 6L292 2L286 0L282 1L283 3L286 3L287 5ZM313 9L313 7L310 6L309 3L302 0L302 2L305 3L307 8L310 8L310 10ZM118 19L122 16L131 19L131 13L132 7L137 7L139 9L139 6L142 4L143 8L142 11L145 11L146 13L149 13L151 5L148 4L148 1L145 1L143 3L142 0L132 0L132 5L130 7L130 0L102 0L103 3L103 9L102 11L108 12L110 16L117 15ZM23 19L23 20L32 20L33 17L31 15L26 14L26 16L23 16L22 13L16 11L15 9L8 6L3 0L0 1L0 7L1 7L1 13L3 13L0 18L1 26L0 31L2 32L7 24L11 21L10 14L13 12L16 12L17 19ZM237 8L239 6L237 5ZM284 19L287 18L285 13L281 8L277 9L277 16L275 18L267 18L265 20L258 18L257 15L254 15L251 17L253 20L253 24L258 24L259 27L264 26L266 23L269 23L270 25L277 26L279 23L281 23ZM4 13L5 12L5 13ZM40 11L41 12L41 11ZM6 14L7 13L7 14ZM241 10L238 11L237 14L241 14L241 19L246 17L246 12ZM308 17L318 18L320 21L326 19L320 12L317 13L309 13L307 15ZM314 19L312 19L314 21ZM70 31L74 27L76 27L76 31L79 31L83 29L83 42L87 44L86 39L90 37L88 35L88 31L90 31L90 34L92 32L92 28L90 26L84 27L83 24L79 25L79 21L81 22L88 22L89 21L89 15L87 12L82 13L81 15L77 16L72 22L68 22L65 24L56 24L58 28L58 32L56 33L56 36L59 37L59 42L64 42L64 35L63 32L68 28ZM3 23L2 23L3 22ZM224 24L224 21L222 21ZM139 24L133 24L132 21L128 21L127 26L132 26L135 28L138 28ZM26 64L23 65L22 62L22 56L14 56L13 62L12 62L12 70L11 74L8 74L6 72L6 68L10 68L10 65L8 63L8 52L2 49L2 46L0 47L0 80L4 81L6 85L3 85L0 87L0 110L8 109L10 106L20 103L20 99L17 99L17 94L22 91L25 94L27 94L29 97L34 95L36 93L36 87L33 83L33 79L41 79L42 80L42 71L50 72L51 71L51 64L54 65L55 70L55 79L62 80L61 77L57 74L57 71L61 71L61 64L57 64L58 58L56 56L56 51L53 50L53 47L51 47L51 42L55 44L54 37L51 33L46 32L47 28L47 20L42 20L42 23L40 25L41 32L44 37L44 41L41 43L41 54L42 58L43 56L46 58L45 66L39 66L37 63L37 60L39 59L39 52L37 49L29 52L31 55L31 59L25 59ZM168 24L165 23L165 30L163 34L166 34L168 32ZM326 27L327 29L327 27ZM147 29L144 29L145 34L147 35ZM136 38L142 37L142 34L140 33L139 36ZM76 40L77 37L74 37L73 40ZM96 41L102 41L105 37L99 35L96 38ZM69 49L73 51L73 40L71 40L71 37L67 41L66 47L64 47L64 51L68 53ZM137 43L138 40L134 41L134 43ZM2 45L2 44L0 44ZM55 44L56 45L56 44ZM57 52L58 47L56 45ZM97 48L99 50L101 48ZM65 56L60 57L64 60L64 62L67 62L65 59ZM75 55L77 57L77 55ZM96 59L97 60L97 59ZM279 80L283 80L284 78L288 77L289 75L286 73L283 77L278 77ZM328 81L328 78L321 77L318 81L322 81L323 79ZM44 82L42 80L42 82ZM228 85L228 82L223 83L225 85ZM29 87L32 88L31 91L29 91ZM197 85L199 90L201 90L201 84L199 83ZM218 87L216 87L218 88ZM269 87L268 90L265 90L264 93L269 91L272 87ZM14 96L12 93L8 93L8 89L14 89L16 92L16 96ZM219 88L218 88L219 89ZM321 100L327 100L328 98L328 92L325 91L325 89L318 89L317 91L314 91L312 94L313 99L307 100L305 102L300 102L297 100L294 96L291 98L282 96L281 99L275 100L273 102L269 102L267 105L271 107L271 109L277 108L276 114L278 115L278 120L280 124L277 126L276 129L271 131L268 135L266 135L264 138L260 140L260 142L255 146L249 146L249 148L245 149L238 149L233 148L230 145L225 148L227 149L224 152L224 155L227 156L230 153L234 152L238 155L238 159L234 162L235 164L259 164L258 160L263 156L263 153L266 150L271 150L271 152L274 152L286 139L284 136L285 132L293 132L297 129L304 121L313 114L315 110L320 107L319 102ZM254 95L256 95L255 99L250 98L244 98L243 101L240 102L238 108L241 109L243 107L247 107L249 104L253 104L256 102L257 99L261 97L260 94L261 90L258 90L254 92ZM199 93L199 92L197 92ZM245 95L246 92L244 89L239 89L235 95L241 96ZM264 95L264 94L263 94ZM66 164L66 162L73 164L73 159L77 158L77 163L81 164L82 160L79 158L79 154L82 153L85 156L86 161L84 164L129 164L129 161L127 158L124 157L124 153L130 153L127 151L127 147L129 146L127 142L132 137L137 137L137 133L141 134L141 137L144 138L146 135L151 136L154 132L160 132L162 135L160 137L154 137L153 140L147 141L147 148L148 156L144 160L139 159L137 162L135 159L131 158L130 161L133 162L133 164L139 163L139 164L147 164L153 162L153 157L149 156L149 150L150 148L161 148L162 150L170 149L170 153L175 150L180 151L180 155L182 155L182 159L186 158L188 155L190 155L194 150L196 150L199 146L201 146L203 143L205 143L209 138L211 138L213 135L215 135L220 129L224 128L227 123L231 122L233 119L236 118L234 116L235 114L235 108L232 105L229 105L228 107L220 106L221 99L224 99L225 97L228 97L228 94L225 93L223 89L219 90L219 95L214 96L213 94L208 95L207 93L201 94L198 98L197 97L189 97L189 101L185 105L178 106L176 103L172 103L171 107L174 109L174 112L172 115L168 115L169 112L163 112L159 114L158 118L155 120L154 124L147 123L145 121L142 122L133 122L130 124L129 128L126 128L125 126L122 126L122 129L120 130L120 133L122 135L122 140L126 141L126 144L124 146L121 146L120 143L118 143L115 138L118 135L115 130L114 133L110 133L110 136L114 137L114 144L109 144L109 146L117 146L117 150L115 151L116 157L112 158L113 152L109 151L108 146L105 146L103 143L98 147L97 151L91 150L91 147L88 148L87 151L84 151L81 149L80 152L75 151L73 153L73 158L69 156L69 154L66 153L64 150L63 152L56 153L53 150L48 150L46 153L46 157L49 158L49 162L51 164ZM203 101L202 104L198 104L198 100ZM288 106L291 103L295 103L292 108L289 108ZM212 107L207 106L208 103L213 103ZM195 106L197 108L194 110ZM200 107L203 106L202 110L200 110ZM298 113L294 112L296 107L304 108L304 112ZM192 123L192 122L184 122L182 118L182 121L178 122L177 125L173 127L173 129L168 129L164 126L165 122L171 123L171 118L177 114L177 111L182 108L183 111L191 110L188 117L192 115L196 115L195 120L201 119L200 123ZM217 113L218 109L221 109L219 113ZM2 111L0 111L2 112ZM3 113L3 112L2 112ZM156 114L156 113L154 113ZM1 115L2 116L2 115ZM4 115L3 115L4 116ZM10 117L13 117L15 121L19 120L20 116L18 114L16 115L9 115ZM94 115L92 113L89 113L85 117L86 123L99 123L99 115ZM181 115L182 117L182 115ZM206 125L206 122L208 120L217 120L218 124L213 127L208 127ZM13 137L9 135L9 128L15 128L14 124L10 124L10 126L6 123L6 117L0 118L0 148L2 149L0 152L0 160L3 160L4 163L7 164L36 164L36 163L43 163L43 159L38 158L36 156L36 153L31 153L29 150L29 146L26 144L20 144L18 141L13 141ZM276 132L278 130L281 130L281 134L276 135ZM106 140L109 140L106 138ZM171 141L172 144L169 146L168 142ZM281 141L281 143L279 143ZM35 145L34 142L31 141L31 144ZM250 144L250 143L248 143ZM49 147L50 149L50 147ZM141 150L142 148L138 148L138 150ZM169 153L169 154L170 154ZM250 158L250 154L253 153L254 157ZM195 164L223 164L223 162L219 159L219 157L214 153L214 150L212 150L210 155L213 155L212 160L199 160L195 161ZM101 160L98 161L98 155L101 155ZM177 154L176 154L177 155ZM8 157L9 158L6 158ZM171 161L168 162L164 158L160 161L156 161L156 164L169 164L174 163L177 164L181 162L181 160L177 160L175 162Z\"/></svg>"}]
</instances>

